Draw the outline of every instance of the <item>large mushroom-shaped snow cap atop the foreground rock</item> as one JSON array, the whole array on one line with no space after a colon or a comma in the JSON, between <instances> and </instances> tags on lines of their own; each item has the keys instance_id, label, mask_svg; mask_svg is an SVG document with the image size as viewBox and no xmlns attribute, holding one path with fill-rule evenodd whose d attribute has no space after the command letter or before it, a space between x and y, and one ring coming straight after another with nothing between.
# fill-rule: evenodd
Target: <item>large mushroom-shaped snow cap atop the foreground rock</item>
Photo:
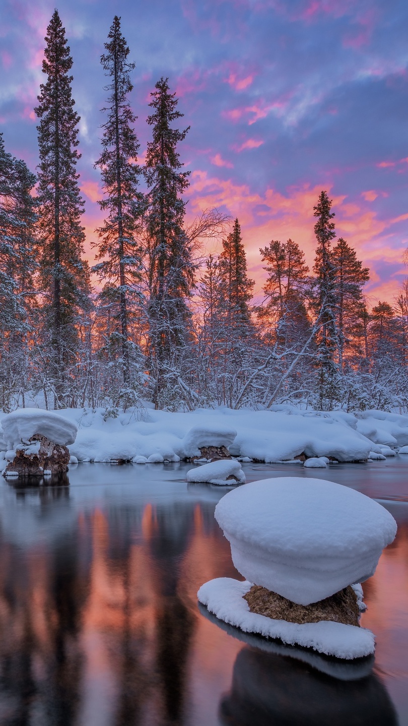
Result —
<instances>
[{"instance_id":1,"label":"large mushroom-shaped snow cap atop the foreground rock","mask_svg":"<svg viewBox=\"0 0 408 726\"><path fill-rule=\"evenodd\" d=\"M251 582L301 605L372 576L396 522L373 499L314 478L255 481L226 494L215 517Z\"/></svg>"}]
</instances>

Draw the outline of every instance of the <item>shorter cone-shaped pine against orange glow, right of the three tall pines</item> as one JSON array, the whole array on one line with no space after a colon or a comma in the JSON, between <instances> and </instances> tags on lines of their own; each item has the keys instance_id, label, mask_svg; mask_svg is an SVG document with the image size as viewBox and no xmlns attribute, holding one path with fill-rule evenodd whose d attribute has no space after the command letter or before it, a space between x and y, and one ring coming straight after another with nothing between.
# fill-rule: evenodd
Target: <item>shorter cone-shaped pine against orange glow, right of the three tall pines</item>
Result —
<instances>
[{"instance_id":1,"label":"shorter cone-shaped pine against orange glow, right of the three tall pines","mask_svg":"<svg viewBox=\"0 0 408 726\"><path fill-rule=\"evenodd\" d=\"M248 302L252 297L254 280L247 274L247 258L242 244L240 223L234 221L232 232L222 241L219 272L227 308L228 325L245 334L250 328Z\"/></svg>"}]
</instances>

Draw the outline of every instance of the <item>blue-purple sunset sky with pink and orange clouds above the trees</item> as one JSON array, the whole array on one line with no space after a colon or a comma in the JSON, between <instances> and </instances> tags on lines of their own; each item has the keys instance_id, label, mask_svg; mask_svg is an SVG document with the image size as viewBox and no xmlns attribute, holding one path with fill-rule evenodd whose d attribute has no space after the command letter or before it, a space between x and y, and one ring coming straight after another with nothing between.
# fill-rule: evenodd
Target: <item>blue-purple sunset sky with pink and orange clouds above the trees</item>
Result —
<instances>
[{"instance_id":1,"label":"blue-purple sunset sky with pink and orange clouds above the trees","mask_svg":"<svg viewBox=\"0 0 408 726\"><path fill-rule=\"evenodd\" d=\"M55 0L0 0L0 131L38 163L33 107ZM131 105L143 161L150 92L168 77L190 126L188 218L238 217L261 295L259 248L291 237L314 258L313 206L333 200L338 237L370 267L368 300L393 302L408 274L406 0L60 0L81 115L78 163L91 263L102 197L94 162L106 79L99 62L114 15L136 63ZM212 251L212 250L211 250Z\"/></svg>"}]
</instances>

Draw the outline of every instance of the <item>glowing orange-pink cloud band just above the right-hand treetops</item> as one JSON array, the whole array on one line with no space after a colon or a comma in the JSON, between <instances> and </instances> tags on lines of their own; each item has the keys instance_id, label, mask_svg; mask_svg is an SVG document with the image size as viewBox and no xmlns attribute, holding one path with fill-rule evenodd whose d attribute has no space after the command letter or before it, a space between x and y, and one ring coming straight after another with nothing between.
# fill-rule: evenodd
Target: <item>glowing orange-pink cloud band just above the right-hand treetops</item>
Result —
<instances>
[{"instance_id":1,"label":"glowing orange-pink cloud band just above the right-hand treetops","mask_svg":"<svg viewBox=\"0 0 408 726\"><path fill-rule=\"evenodd\" d=\"M224 208L240 220L248 269L251 277L257 281L257 297L262 295L261 287L266 277L259 248L270 240L287 240L291 237L304 250L306 262L312 268L316 248L313 207L322 191L321 186L303 184L290 187L286 194L269 188L264 194L258 194L251 192L246 184L237 185L231 179L209 176L205 171L193 171L191 181L190 213L217 207ZM326 189L330 194L330 186L326 186ZM392 225L408 219L408 214L395 219L378 219L376 211L371 205L367 207L365 200L361 203L351 202L344 195L332 196L332 200L337 236L345 237L356 249L359 258L371 269L370 301L372 304L382 298L392 301L400 273L385 281L382 279L385 274L383 266L384 263L395 265L401 262L401 248L392 246Z\"/></svg>"}]
</instances>

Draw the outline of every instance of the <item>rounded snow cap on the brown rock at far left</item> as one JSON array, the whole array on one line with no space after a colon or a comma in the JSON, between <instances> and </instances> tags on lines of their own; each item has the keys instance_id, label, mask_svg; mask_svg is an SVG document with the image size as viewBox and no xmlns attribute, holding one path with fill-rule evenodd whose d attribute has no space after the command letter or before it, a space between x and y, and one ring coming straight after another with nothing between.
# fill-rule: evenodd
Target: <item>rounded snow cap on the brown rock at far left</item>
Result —
<instances>
[{"instance_id":1,"label":"rounded snow cap on the brown rock at far left","mask_svg":"<svg viewBox=\"0 0 408 726\"><path fill-rule=\"evenodd\" d=\"M22 442L28 444L32 436L46 436L54 444L68 446L76 440L78 426L60 414L42 409L17 409L1 419L8 449Z\"/></svg>"}]
</instances>

